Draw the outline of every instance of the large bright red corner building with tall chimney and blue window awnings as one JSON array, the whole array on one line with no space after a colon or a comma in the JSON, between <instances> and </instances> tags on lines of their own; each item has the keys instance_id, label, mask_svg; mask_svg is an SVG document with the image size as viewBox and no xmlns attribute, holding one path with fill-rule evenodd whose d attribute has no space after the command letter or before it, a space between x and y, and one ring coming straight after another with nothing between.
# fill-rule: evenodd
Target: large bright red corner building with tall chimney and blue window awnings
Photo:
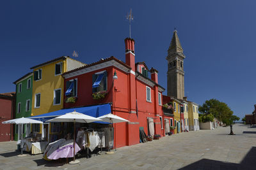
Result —
<instances>
[{"instance_id":1,"label":"large bright red corner building with tall chimney and blue window awnings","mask_svg":"<svg viewBox=\"0 0 256 170\"><path fill-rule=\"evenodd\" d=\"M140 129L147 135L164 136L164 88L158 85L157 74L154 68L148 70L145 62L135 63L134 40L126 38L125 62L109 57L63 73L65 89L77 97L76 103L64 103L64 108L112 103L112 113L129 120L114 124L116 148L140 143ZM154 127L154 131L151 128L149 132L148 127Z\"/></svg>"}]
</instances>

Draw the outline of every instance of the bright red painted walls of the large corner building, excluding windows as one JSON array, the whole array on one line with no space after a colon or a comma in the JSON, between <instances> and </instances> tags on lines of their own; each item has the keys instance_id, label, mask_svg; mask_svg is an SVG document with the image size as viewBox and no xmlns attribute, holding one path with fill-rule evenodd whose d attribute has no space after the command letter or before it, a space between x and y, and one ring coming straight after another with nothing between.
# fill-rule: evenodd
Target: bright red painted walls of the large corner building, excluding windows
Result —
<instances>
[{"instance_id":1,"label":"bright red painted walls of the large corner building, excluding windows","mask_svg":"<svg viewBox=\"0 0 256 170\"><path fill-rule=\"evenodd\" d=\"M108 96L101 100L92 99L92 75L99 71L108 71ZM113 73L116 71L118 79L113 83ZM162 106L158 104L158 88L151 88L151 103L146 100L146 84L136 80L134 74L124 73L114 66L99 69L65 80L77 78L77 101L74 104L64 103L65 108L88 106L100 103L112 103L112 113L130 122L114 124L115 147L140 143L140 127L148 134L147 117L154 118L155 134L164 135L160 118L163 116ZM66 89L66 88L65 88ZM155 92L157 90L157 92ZM138 117L136 114L136 98L138 103ZM155 99L156 98L156 99Z\"/></svg>"}]
</instances>

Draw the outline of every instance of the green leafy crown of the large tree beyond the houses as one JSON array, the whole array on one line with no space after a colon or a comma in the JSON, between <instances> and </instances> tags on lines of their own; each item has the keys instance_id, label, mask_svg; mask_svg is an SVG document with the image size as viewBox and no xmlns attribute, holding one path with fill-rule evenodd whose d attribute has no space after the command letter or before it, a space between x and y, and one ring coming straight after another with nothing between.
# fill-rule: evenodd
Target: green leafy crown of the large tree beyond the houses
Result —
<instances>
[{"instance_id":1,"label":"green leafy crown of the large tree beyond the houses","mask_svg":"<svg viewBox=\"0 0 256 170\"><path fill-rule=\"evenodd\" d=\"M240 119L239 117L233 115L233 111L230 110L226 103L220 102L217 99L205 101L205 103L200 106L198 110L200 113L204 113L205 115L212 114L213 117L218 118L226 125L231 125L234 121Z\"/></svg>"}]
</instances>

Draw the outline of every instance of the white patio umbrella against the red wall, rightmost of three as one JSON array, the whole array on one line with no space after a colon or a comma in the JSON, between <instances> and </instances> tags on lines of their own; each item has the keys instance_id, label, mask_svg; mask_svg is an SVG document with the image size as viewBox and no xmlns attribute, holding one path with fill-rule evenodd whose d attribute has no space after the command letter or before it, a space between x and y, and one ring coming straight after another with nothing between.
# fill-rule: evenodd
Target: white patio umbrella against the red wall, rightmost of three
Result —
<instances>
[{"instance_id":1,"label":"white patio umbrella against the red wall, rightmost of three","mask_svg":"<svg viewBox=\"0 0 256 170\"><path fill-rule=\"evenodd\" d=\"M116 124L116 123L121 123L121 122L129 122L129 120L126 120L122 117L118 117L116 115L113 115L112 113L109 113L107 115L103 115L100 118L103 122L108 122L110 124ZM111 126L109 126L109 132L111 133L111 144L112 143L112 132L111 132ZM109 152L108 154L114 153L114 152L110 152L111 148L109 147Z\"/></svg>"}]
</instances>

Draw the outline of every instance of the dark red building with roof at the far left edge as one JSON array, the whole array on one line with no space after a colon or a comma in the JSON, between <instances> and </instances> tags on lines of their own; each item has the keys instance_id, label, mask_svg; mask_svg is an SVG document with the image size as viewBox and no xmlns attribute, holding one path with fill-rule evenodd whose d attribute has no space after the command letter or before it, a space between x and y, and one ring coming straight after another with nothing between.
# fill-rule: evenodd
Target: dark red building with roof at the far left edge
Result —
<instances>
[{"instance_id":1,"label":"dark red building with roof at the far left edge","mask_svg":"<svg viewBox=\"0 0 256 170\"><path fill-rule=\"evenodd\" d=\"M13 140L12 124L2 124L15 117L15 92L0 94L0 142Z\"/></svg>"}]
</instances>

